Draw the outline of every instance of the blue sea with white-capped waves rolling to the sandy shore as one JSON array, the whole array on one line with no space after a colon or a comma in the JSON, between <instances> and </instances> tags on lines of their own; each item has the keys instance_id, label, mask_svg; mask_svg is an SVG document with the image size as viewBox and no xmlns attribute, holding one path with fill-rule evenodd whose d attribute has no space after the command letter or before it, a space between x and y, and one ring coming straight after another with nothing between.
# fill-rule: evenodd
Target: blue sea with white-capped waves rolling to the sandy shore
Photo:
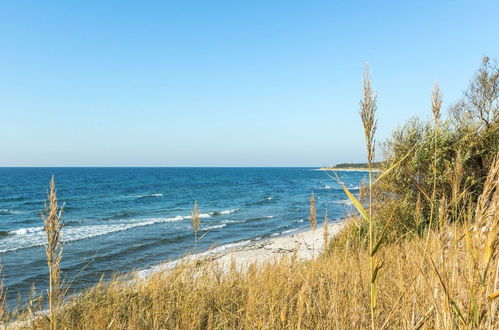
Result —
<instances>
[{"instance_id":1,"label":"blue sea with white-capped waves rolling to the sandy shore","mask_svg":"<svg viewBox=\"0 0 499 330\"><path fill-rule=\"evenodd\" d=\"M339 172L358 191L363 172ZM201 213L198 251L308 226L314 191L322 222L351 210L340 186L312 168L0 168L0 264L8 298L46 288L40 211L55 176L64 203L62 272L72 290L104 275L145 269L192 251L190 213Z\"/></svg>"}]
</instances>

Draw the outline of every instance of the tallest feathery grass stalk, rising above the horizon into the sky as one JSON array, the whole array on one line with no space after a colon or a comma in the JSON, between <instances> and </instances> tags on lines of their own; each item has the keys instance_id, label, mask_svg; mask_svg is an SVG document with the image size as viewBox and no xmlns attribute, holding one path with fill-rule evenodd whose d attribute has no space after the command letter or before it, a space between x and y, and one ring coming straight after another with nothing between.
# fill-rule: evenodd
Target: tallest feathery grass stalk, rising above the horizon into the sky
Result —
<instances>
[{"instance_id":1,"label":"tallest feathery grass stalk, rising above the horizon into the sky","mask_svg":"<svg viewBox=\"0 0 499 330\"><path fill-rule=\"evenodd\" d=\"M364 97L360 101L360 117L362 119L362 125L364 126L364 137L367 148L367 166L369 168L369 250L371 251L370 256L370 270L371 270L371 327L374 329L375 324L375 316L374 310L376 308L376 281L377 275L381 268L381 265L377 264L376 261L376 253L373 250L375 237L374 237L374 228L373 228L373 214L372 214L372 164L374 162L374 152L375 152L375 133L376 133L376 109L377 109L377 95L372 90L371 77L369 76L369 66L366 63L365 71L364 71ZM381 242L380 242L381 243ZM379 246L376 244L376 246ZM376 249L377 250L377 249Z\"/></svg>"}]
</instances>

